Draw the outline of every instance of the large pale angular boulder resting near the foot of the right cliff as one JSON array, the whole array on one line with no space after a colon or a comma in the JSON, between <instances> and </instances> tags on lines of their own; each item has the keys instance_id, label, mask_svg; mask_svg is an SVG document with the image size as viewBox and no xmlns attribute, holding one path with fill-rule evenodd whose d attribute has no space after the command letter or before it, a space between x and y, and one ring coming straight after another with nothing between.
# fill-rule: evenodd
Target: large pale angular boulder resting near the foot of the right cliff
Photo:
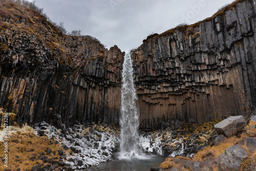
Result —
<instances>
[{"instance_id":1,"label":"large pale angular boulder resting near the foot of the right cliff","mask_svg":"<svg viewBox=\"0 0 256 171\"><path fill-rule=\"evenodd\" d=\"M230 137L245 127L246 122L243 116L230 116L224 119L220 123L214 125L214 128L218 134L222 134L226 137Z\"/></svg>"}]
</instances>

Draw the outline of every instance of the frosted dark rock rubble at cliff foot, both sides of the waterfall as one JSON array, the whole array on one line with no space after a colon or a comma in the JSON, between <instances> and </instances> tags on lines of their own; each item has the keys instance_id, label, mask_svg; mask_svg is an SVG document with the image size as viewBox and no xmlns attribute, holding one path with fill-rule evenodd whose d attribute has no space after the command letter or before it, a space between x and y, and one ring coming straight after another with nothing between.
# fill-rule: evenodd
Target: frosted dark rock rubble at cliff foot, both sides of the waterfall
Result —
<instances>
[{"instance_id":1,"label":"frosted dark rock rubble at cliff foot, both sides of the waterfall","mask_svg":"<svg viewBox=\"0 0 256 171\"><path fill-rule=\"evenodd\" d=\"M208 139L215 134L211 129L213 124L214 122L203 125L176 123L176 127L164 130L141 130L139 146L144 153L150 155L193 157L196 152L208 146ZM201 131L202 127L204 131ZM34 129L39 136L47 136L53 143L59 143L63 147L64 150L58 151L57 154L61 159L56 161L56 166L60 169L81 170L113 161L116 157L114 152L119 151L120 130L115 125L78 123L67 129L57 129L46 122L40 122L34 125ZM63 130L66 133L63 133ZM39 165L34 169L40 170Z\"/></svg>"}]
</instances>

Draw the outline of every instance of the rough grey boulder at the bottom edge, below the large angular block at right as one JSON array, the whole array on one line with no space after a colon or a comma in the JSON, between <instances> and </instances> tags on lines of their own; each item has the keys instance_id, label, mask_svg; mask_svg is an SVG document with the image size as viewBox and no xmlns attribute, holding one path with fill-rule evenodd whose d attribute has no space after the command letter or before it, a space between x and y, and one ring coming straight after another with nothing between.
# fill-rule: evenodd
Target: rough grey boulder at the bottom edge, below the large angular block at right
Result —
<instances>
[{"instance_id":1,"label":"rough grey boulder at the bottom edge, below the large angular block at right","mask_svg":"<svg viewBox=\"0 0 256 171\"><path fill-rule=\"evenodd\" d=\"M219 171L238 170L243 160L248 156L248 153L240 146L233 145L225 149L218 159Z\"/></svg>"}]
</instances>

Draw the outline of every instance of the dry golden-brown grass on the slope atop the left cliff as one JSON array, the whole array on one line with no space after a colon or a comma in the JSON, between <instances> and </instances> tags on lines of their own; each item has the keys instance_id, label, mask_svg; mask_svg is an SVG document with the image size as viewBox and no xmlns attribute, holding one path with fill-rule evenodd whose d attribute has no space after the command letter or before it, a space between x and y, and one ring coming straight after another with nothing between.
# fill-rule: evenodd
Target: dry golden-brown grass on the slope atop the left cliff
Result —
<instances>
[{"instance_id":1,"label":"dry golden-brown grass on the slope atop the left cliff","mask_svg":"<svg viewBox=\"0 0 256 171\"><path fill-rule=\"evenodd\" d=\"M60 57L57 59L61 65L72 64L71 59L66 56L65 48L60 44L58 35L60 35L61 31L48 22L44 16L32 9L10 1L3 1L2 4L0 6L0 32L1 30L5 31L6 29L13 28L18 31L17 34L26 33L34 35L37 42L45 42L44 45L51 49L52 54L53 51L57 51L60 54ZM9 23L3 21L6 18L9 19ZM0 53L8 48L8 46L0 45Z\"/></svg>"}]
</instances>

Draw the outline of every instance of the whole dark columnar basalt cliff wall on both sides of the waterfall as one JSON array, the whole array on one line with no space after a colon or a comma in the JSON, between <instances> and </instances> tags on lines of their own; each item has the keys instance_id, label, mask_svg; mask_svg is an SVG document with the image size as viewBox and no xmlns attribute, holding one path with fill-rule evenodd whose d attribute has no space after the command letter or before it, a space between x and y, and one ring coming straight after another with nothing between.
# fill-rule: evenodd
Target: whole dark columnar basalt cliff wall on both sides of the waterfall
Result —
<instances>
[{"instance_id":1,"label":"whole dark columnar basalt cliff wall on both sides of the waterfall","mask_svg":"<svg viewBox=\"0 0 256 171\"><path fill-rule=\"evenodd\" d=\"M255 0L239 0L143 40L132 52L141 127L254 111L255 11ZM68 126L118 123L124 53L117 46L63 35L35 11L6 1L0 56L0 108L17 114L18 124L56 124L55 114Z\"/></svg>"}]
</instances>

